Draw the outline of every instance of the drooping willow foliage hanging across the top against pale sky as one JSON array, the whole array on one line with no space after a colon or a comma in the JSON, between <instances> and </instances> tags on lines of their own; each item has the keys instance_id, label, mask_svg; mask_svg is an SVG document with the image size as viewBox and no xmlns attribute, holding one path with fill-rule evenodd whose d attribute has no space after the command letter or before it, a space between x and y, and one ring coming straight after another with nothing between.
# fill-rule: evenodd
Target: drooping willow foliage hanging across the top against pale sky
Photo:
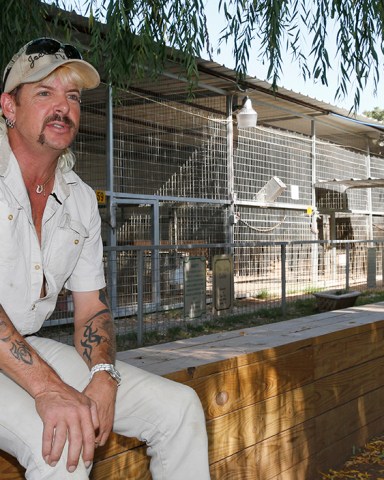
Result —
<instances>
[{"instance_id":1,"label":"drooping willow foliage hanging across the top against pale sky","mask_svg":"<svg viewBox=\"0 0 384 480\"><path fill-rule=\"evenodd\" d=\"M51 0L68 12L85 13L89 56L117 84L138 75L156 75L170 52L190 85L198 80L196 57L211 55L205 0ZM209 0L211 2L213 0ZM283 54L300 65L305 79L327 85L330 69L338 73L335 98L355 89L354 107L369 78L380 78L384 37L384 2L377 0L216 0L223 22L220 42L233 45L238 81L255 58L268 66L273 88L284 74ZM39 0L0 0L1 60L15 47L42 34L69 36L64 15L53 14ZM64 33L63 33L64 32ZM333 32L333 33L332 33ZM337 58L330 56L336 49ZM4 65L2 65L4 66Z\"/></svg>"}]
</instances>

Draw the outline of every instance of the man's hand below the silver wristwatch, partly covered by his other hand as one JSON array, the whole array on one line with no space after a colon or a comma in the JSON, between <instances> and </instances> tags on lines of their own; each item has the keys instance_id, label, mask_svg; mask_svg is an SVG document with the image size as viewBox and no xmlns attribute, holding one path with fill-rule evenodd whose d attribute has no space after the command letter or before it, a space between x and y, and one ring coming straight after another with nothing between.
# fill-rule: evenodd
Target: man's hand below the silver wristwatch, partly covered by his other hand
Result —
<instances>
[{"instance_id":1,"label":"man's hand below the silver wristwatch, partly covered by his other hand","mask_svg":"<svg viewBox=\"0 0 384 480\"><path fill-rule=\"evenodd\" d=\"M95 445L103 446L113 427L117 383L109 373L97 372L83 393L97 405L99 429L96 430Z\"/></svg>"}]
</instances>

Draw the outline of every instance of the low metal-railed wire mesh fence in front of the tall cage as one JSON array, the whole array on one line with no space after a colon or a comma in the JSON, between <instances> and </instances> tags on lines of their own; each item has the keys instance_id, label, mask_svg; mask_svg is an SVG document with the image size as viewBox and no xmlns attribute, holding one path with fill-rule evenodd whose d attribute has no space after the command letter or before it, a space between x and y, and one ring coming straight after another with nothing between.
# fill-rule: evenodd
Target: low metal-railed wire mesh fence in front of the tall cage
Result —
<instances>
[{"instance_id":1,"label":"low metal-railed wire mesh fence in front of the tall cage","mask_svg":"<svg viewBox=\"0 0 384 480\"><path fill-rule=\"evenodd\" d=\"M284 311L318 291L383 287L381 242L248 242L106 247L105 269L120 349L218 316ZM313 312L315 313L315 311ZM72 342L63 292L44 334Z\"/></svg>"}]
</instances>

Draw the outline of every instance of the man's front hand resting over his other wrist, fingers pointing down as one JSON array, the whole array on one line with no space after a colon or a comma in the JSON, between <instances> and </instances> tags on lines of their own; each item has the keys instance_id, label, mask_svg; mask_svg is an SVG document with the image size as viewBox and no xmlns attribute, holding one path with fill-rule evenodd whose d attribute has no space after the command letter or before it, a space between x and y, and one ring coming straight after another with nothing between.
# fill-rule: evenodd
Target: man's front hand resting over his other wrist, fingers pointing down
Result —
<instances>
[{"instance_id":1,"label":"man's front hand resting over his other wrist, fingers pointing down","mask_svg":"<svg viewBox=\"0 0 384 480\"><path fill-rule=\"evenodd\" d=\"M74 472L80 454L86 467L93 461L99 417L96 403L83 393L63 384L35 396L43 430L43 458L52 467L59 461L68 438L67 470Z\"/></svg>"}]
</instances>

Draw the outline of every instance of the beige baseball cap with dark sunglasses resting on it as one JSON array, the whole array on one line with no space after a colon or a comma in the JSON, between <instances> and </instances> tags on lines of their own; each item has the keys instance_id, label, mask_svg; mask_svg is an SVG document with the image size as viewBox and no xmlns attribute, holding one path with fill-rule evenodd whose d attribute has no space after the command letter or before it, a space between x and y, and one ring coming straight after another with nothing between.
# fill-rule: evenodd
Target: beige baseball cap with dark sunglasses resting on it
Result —
<instances>
[{"instance_id":1,"label":"beige baseball cap with dark sunglasses resting on it","mask_svg":"<svg viewBox=\"0 0 384 480\"><path fill-rule=\"evenodd\" d=\"M92 89L99 85L97 70L83 60L77 48L42 37L27 43L12 57L4 70L3 92L9 93L23 83L38 82L63 65L81 76L82 88Z\"/></svg>"}]
</instances>

